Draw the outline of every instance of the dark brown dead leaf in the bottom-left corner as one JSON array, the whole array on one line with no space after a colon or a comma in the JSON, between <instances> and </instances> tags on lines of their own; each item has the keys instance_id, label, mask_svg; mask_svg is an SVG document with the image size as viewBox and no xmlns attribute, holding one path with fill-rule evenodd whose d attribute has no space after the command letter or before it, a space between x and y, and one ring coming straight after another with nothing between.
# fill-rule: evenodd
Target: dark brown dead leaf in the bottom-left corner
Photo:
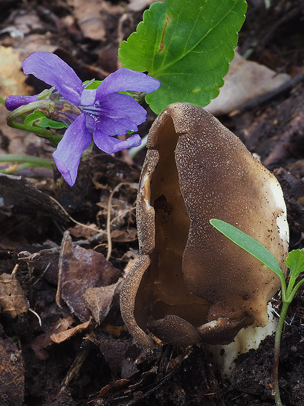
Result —
<instances>
[{"instance_id":1,"label":"dark brown dead leaf in the bottom-left corner","mask_svg":"<svg viewBox=\"0 0 304 406\"><path fill-rule=\"evenodd\" d=\"M10 339L0 338L0 393L10 406L21 406L24 398L24 365L21 352Z\"/></svg>"}]
</instances>

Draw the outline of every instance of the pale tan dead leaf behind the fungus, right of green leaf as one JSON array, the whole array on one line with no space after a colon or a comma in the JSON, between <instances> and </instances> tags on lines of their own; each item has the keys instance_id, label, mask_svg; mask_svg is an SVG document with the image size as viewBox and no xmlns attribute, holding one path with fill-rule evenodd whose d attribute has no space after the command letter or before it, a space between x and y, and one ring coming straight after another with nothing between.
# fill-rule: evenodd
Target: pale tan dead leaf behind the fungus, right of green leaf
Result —
<instances>
[{"instance_id":1,"label":"pale tan dead leaf behind the fungus, right of green leaf","mask_svg":"<svg viewBox=\"0 0 304 406\"><path fill-rule=\"evenodd\" d=\"M277 74L269 67L243 59L236 52L225 76L219 95L205 107L215 116L238 110L248 101L274 90L290 79L287 74Z\"/></svg>"}]
</instances>

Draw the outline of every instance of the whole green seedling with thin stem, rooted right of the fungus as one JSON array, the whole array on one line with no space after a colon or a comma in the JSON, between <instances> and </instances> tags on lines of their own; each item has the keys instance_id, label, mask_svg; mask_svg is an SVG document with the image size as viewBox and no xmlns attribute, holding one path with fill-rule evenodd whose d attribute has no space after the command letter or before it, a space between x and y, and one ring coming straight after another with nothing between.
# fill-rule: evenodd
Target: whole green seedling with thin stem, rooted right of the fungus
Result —
<instances>
[{"instance_id":1,"label":"whole green seedling with thin stem, rooted right of the fungus","mask_svg":"<svg viewBox=\"0 0 304 406\"><path fill-rule=\"evenodd\" d=\"M261 245L250 235L239 230L237 227L218 219L211 219L211 225L224 234L227 238L243 248L249 254L257 258L264 265L268 266L281 281L282 287L282 310L278 321L278 327L275 335L274 362L273 362L273 394L277 406L282 406L279 390L279 357L281 335L284 326L285 317L289 304L291 303L296 291L304 282L304 278L296 283L301 272L304 272L304 249L292 250L289 252L285 264L290 270L290 279L286 287L285 277L277 259L273 254ZM295 284L296 283L296 284Z\"/></svg>"}]
</instances>

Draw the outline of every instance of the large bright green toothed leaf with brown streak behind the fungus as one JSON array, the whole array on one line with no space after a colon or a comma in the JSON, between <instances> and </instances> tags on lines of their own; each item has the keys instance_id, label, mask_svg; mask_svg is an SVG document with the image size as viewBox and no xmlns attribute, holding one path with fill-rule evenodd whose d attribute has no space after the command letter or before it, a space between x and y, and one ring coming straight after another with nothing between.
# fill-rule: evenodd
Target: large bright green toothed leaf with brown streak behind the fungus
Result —
<instances>
[{"instance_id":1,"label":"large bright green toothed leaf with brown streak behind the fungus","mask_svg":"<svg viewBox=\"0 0 304 406\"><path fill-rule=\"evenodd\" d=\"M144 12L118 55L123 67L162 82L146 95L155 113L177 101L204 107L218 95L246 9L245 0L165 0Z\"/></svg>"}]
</instances>

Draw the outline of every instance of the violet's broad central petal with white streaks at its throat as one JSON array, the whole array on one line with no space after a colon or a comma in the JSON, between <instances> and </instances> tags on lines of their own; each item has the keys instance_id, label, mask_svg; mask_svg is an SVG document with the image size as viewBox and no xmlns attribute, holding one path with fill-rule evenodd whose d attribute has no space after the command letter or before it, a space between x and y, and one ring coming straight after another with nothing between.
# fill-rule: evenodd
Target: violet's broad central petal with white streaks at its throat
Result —
<instances>
[{"instance_id":1,"label":"violet's broad central petal with white streaks at its throat","mask_svg":"<svg viewBox=\"0 0 304 406\"><path fill-rule=\"evenodd\" d=\"M131 96L110 93L84 111L95 118L96 126L108 136L136 131L146 119L146 111Z\"/></svg>"}]
</instances>

